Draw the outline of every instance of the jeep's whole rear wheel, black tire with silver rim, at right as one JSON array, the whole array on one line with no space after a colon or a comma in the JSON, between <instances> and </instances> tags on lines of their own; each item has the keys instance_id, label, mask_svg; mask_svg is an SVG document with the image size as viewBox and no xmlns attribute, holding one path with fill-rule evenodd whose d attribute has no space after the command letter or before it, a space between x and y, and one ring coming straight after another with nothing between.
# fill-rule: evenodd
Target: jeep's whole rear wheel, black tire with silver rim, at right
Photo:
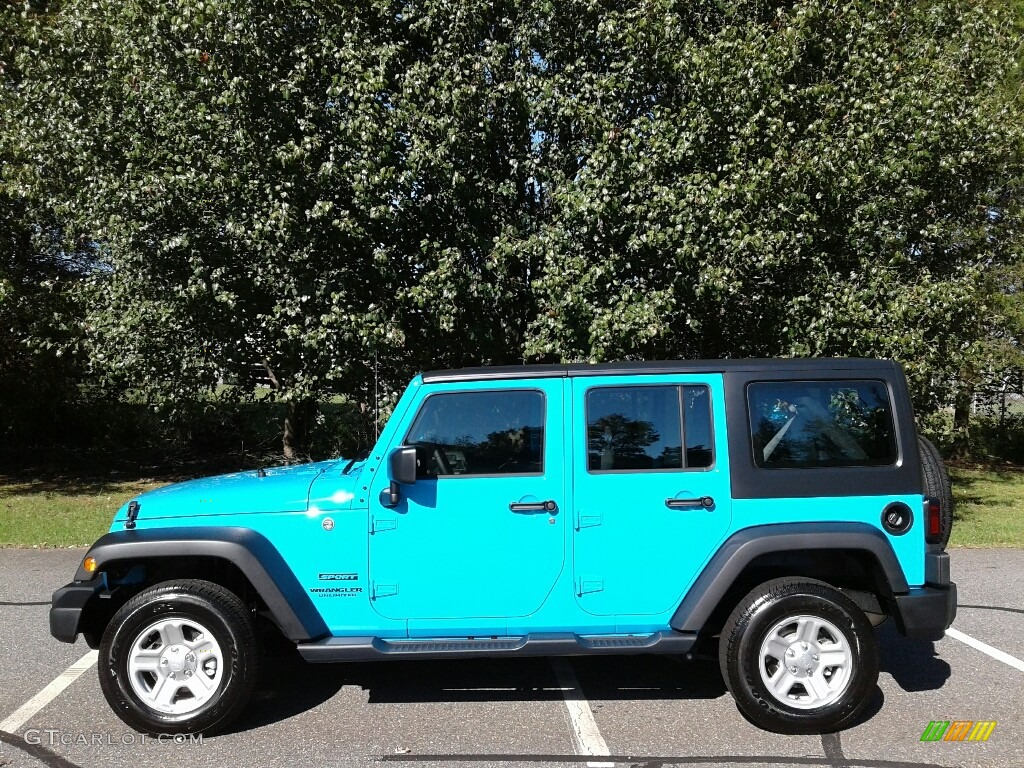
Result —
<instances>
[{"instance_id":1,"label":"jeep's whole rear wheel, black tire with silver rim, at right","mask_svg":"<svg viewBox=\"0 0 1024 768\"><path fill-rule=\"evenodd\" d=\"M801 626L798 618L814 632L807 645L790 633ZM837 634L845 645L835 642ZM772 655L769 637L780 641L779 648L788 647L779 651L782 662ZM846 659L842 666L818 660L838 652ZM794 666L783 669L790 658ZM843 593L810 579L776 579L753 590L732 611L722 630L719 664L736 707L755 725L776 733L829 733L852 725L870 700L879 645L863 611ZM786 675L790 670L799 678ZM784 696L769 688L766 676L777 680ZM820 705L812 682L825 691Z\"/></svg>"}]
</instances>

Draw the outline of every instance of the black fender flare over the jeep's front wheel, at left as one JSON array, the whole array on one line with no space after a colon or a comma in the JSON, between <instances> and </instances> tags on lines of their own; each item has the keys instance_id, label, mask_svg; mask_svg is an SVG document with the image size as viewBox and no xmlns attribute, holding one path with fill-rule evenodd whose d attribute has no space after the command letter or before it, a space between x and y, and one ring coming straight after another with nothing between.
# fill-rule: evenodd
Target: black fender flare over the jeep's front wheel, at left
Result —
<instances>
[{"instance_id":1,"label":"black fender flare over the jeep's front wheel, at left","mask_svg":"<svg viewBox=\"0 0 1024 768\"><path fill-rule=\"evenodd\" d=\"M89 573L80 565L76 582L90 582L115 562L173 557L226 560L249 580L289 640L304 642L329 634L324 617L285 558L266 537L250 528L203 525L119 530L100 537L86 556L95 558L95 571Z\"/></svg>"}]
</instances>

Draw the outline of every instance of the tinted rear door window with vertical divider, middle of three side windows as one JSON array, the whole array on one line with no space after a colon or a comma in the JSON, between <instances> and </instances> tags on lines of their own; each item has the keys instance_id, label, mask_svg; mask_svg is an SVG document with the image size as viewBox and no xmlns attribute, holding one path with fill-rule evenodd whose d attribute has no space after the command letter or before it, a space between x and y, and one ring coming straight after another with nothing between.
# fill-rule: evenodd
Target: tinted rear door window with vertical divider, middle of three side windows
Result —
<instances>
[{"instance_id":1,"label":"tinted rear door window with vertical divider, middle of three side windows","mask_svg":"<svg viewBox=\"0 0 1024 768\"><path fill-rule=\"evenodd\" d=\"M711 445L707 387L602 387L587 393L591 472L710 467Z\"/></svg>"}]
</instances>

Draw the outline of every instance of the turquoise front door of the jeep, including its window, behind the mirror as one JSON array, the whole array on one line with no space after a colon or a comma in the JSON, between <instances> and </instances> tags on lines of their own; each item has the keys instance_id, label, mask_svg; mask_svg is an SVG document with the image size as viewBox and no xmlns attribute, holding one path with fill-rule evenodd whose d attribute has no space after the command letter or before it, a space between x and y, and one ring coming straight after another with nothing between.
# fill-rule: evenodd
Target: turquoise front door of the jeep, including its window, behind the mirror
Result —
<instances>
[{"instance_id":1,"label":"turquoise front door of the jeep, including its window, behind the mirror","mask_svg":"<svg viewBox=\"0 0 1024 768\"><path fill-rule=\"evenodd\" d=\"M543 605L564 564L565 388L560 378L425 388L401 440L417 446L417 481L388 508L381 472L370 497L375 610L423 635L474 617L498 631Z\"/></svg>"}]
</instances>

